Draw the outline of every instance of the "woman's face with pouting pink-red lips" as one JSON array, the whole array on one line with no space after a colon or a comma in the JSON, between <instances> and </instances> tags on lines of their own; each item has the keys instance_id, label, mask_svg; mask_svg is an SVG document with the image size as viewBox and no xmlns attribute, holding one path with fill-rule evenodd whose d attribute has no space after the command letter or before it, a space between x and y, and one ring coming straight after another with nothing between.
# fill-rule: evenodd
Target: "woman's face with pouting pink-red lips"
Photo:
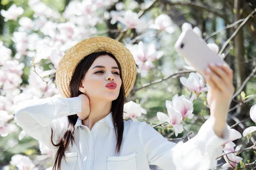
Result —
<instances>
[{"instance_id":1,"label":"woman's face with pouting pink-red lips","mask_svg":"<svg viewBox=\"0 0 256 170\"><path fill-rule=\"evenodd\" d=\"M97 57L82 79L79 90L87 91L89 99L113 101L119 96L122 80L116 61L109 55ZM112 86L106 85L113 82ZM114 84L115 83L115 84ZM115 87L113 87L116 86ZM84 88L82 88L84 87Z\"/></svg>"}]
</instances>

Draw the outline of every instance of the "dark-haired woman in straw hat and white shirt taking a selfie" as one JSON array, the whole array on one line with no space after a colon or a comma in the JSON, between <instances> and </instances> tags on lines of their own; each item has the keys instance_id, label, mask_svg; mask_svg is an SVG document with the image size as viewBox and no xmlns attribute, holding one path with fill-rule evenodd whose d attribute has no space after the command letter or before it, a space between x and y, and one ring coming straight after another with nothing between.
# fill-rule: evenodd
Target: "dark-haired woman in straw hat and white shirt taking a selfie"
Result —
<instances>
[{"instance_id":1,"label":"dark-haired woman in straw hat and white shirt taking a selfie","mask_svg":"<svg viewBox=\"0 0 256 170\"><path fill-rule=\"evenodd\" d=\"M122 43L108 37L83 40L61 59L56 84L63 99L26 100L15 115L26 133L52 150L53 169L149 170L155 164L207 170L229 137L227 109L234 93L232 69L209 67L211 116L186 143L169 142L145 122L123 119L136 64Z\"/></svg>"}]
</instances>

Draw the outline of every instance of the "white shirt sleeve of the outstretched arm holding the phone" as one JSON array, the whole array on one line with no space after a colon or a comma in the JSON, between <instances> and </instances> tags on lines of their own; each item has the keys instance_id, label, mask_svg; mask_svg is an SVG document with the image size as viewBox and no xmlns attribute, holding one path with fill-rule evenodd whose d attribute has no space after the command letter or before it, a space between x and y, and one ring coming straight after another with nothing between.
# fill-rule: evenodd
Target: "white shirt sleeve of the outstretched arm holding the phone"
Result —
<instances>
[{"instance_id":1,"label":"white shirt sleeve of the outstretched arm holding the phone","mask_svg":"<svg viewBox=\"0 0 256 170\"><path fill-rule=\"evenodd\" d=\"M217 165L216 158L222 154L222 145L229 138L226 126L223 138L213 130L214 118L201 126L198 134L183 143L169 142L153 127L142 122L139 125L140 142L148 159L163 170L209 170Z\"/></svg>"}]
</instances>

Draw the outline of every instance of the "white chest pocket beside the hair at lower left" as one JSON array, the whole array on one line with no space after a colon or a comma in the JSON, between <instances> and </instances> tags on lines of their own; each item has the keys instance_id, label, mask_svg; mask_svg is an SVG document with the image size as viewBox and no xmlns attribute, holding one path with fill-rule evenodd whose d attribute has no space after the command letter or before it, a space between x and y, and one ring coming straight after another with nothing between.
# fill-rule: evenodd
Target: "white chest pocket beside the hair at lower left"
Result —
<instances>
[{"instance_id":1,"label":"white chest pocket beside the hair at lower left","mask_svg":"<svg viewBox=\"0 0 256 170\"><path fill-rule=\"evenodd\" d=\"M77 165L77 152L65 153L64 157L61 159L61 170L75 170Z\"/></svg>"}]
</instances>

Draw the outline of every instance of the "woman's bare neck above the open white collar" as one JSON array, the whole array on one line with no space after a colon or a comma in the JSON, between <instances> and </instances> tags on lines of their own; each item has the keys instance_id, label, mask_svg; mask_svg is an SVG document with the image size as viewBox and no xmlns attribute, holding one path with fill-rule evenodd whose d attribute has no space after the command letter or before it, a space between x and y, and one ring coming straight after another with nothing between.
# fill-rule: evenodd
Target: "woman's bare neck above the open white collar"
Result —
<instances>
[{"instance_id":1,"label":"woman's bare neck above the open white collar","mask_svg":"<svg viewBox=\"0 0 256 170\"><path fill-rule=\"evenodd\" d=\"M99 99L90 99L90 114L82 120L82 125L89 127L91 130L93 125L99 120L106 117L111 112L112 102L100 101Z\"/></svg>"}]
</instances>

